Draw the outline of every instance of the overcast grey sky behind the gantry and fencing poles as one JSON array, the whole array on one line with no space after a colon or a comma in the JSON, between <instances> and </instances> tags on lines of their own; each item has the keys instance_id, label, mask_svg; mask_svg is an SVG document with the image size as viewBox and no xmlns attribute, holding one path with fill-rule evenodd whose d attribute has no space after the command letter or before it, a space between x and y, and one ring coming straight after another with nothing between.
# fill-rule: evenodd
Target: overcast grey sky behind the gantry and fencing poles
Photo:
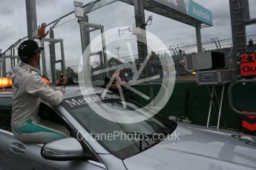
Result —
<instances>
[{"instance_id":1,"label":"overcast grey sky behind the gantry and fencing poles","mask_svg":"<svg viewBox=\"0 0 256 170\"><path fill-rule=\"evenodd\" d=\"M83 1L88 2L89 0ZM214 27L202 30L203 42L211 41L211 38L231 38L231 25L229 14L229 0L194 0L202 6L208 8L213 13ZM250 8L255 9L256 1L250 1ZM26 10L24 0L0 0L0 49L3 51L10 47L16 40L27 35ZM73 10L73 0L36 0L38 24L53 21L53 19L63 16ZM256 17L256 13L251 10L251 17ZM196 44L194 27L173 21L163 16L146 11L146 17L154 17L153 24L148 27L151 33L157 35L166 46ZM61 23L74 18L74 15L61 21ZM134 9L128 4L116 2L103 7L89 15L89 20L95 24L102 24L105 30L119 26L134 25ZM95 33L99 34L98 33ZM248 27L247 34L256 34L255 26ZM95 37L92 35L91 39ZM66 65L76 65L79 62L81 44L79 38L79 25L76 19L62 24L55 29L56 38L63 38L65 44ZM120 45L120 44L119 44ZM116 53L118 44L111 44L109 47ZM120 49L120 55L127 55L125 47Z\"/></svg>"}]
</instances>

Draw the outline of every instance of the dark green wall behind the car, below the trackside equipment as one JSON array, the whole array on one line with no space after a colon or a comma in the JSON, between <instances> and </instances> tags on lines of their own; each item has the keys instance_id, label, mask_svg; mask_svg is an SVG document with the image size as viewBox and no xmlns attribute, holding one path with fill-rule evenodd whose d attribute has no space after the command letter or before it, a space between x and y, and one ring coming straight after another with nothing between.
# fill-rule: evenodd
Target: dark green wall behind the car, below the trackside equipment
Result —
<instances>
[{"instance_id":1,"label":"dark green wall behind the car, below the trackside equipment","mask_svg":"<svg viewBox=\"0 0 256 170\"><path fill-rule=\"evenodd\" d=\"M135 89L145 95L154 97L160 90L161 82L151 84L137 84L133 86ZM234 89L234 103L242 110L256 111L256 88L255 84L239 85ZM215 86L218 100L214 98L214 104L211 109L211 119L209 126L217 126L217 116L219 111L220 94L222 86ZM222 118L220 126L223 129L241 129L240 115L235 114L229 107L228 98L229 84L223 96ZM211 90L211 86L209 86ZM191 123L206 126L209 115L210 95L207 86L198 86L195 81L177 81L171 98L165 107L160 110L159 114L168 118L169 116L188 117ZM137 103L146 106L150 101L145 100L139 95L135 95Z\"/></svg>"}]
</instances>

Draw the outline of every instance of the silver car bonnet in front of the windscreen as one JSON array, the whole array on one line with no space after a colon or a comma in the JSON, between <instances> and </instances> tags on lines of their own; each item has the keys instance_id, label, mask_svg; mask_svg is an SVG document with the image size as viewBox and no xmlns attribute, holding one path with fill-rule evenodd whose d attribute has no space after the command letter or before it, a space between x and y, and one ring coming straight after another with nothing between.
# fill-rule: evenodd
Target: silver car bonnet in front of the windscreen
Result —
<instances>
[{"instance_id":1,"label":"silver car bonnet in front of the windscreen","mask_svg":"<svg viewBox=\"0 0 256 170\"><path fill-rule=\"evenodd\" d=\"M250 136L178 124L150 149L124 160L128 169L256 169L256 141Z\"/></svg>"}]
</instances>

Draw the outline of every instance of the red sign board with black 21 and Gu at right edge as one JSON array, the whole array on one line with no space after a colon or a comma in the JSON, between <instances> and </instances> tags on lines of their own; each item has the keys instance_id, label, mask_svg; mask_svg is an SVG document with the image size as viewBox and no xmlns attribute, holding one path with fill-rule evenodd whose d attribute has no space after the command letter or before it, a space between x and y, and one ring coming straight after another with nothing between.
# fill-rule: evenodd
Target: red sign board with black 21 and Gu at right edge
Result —
<instances>
[{"instance_id":1,"label":"red sign board with black 21 and Gu at right edge","mask_svg":"<svg viewBox=\"0 0 256 170\"><path fill-rule=\"evenodd\" d=\"M256 55L255 52L243 53L240 58L240 75L252 76L256 75Z\"/></svg>"}]
</instances>

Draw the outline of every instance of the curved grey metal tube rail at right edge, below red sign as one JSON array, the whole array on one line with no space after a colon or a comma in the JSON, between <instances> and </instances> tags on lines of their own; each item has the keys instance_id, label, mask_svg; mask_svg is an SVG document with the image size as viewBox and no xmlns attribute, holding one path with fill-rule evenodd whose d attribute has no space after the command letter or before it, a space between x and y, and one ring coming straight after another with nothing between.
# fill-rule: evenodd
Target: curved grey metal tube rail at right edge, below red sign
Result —
<instances>
[{"instance_id":1,"label":"curved grey metal tube rail at right edge, below red sign","mask_svg":"<svg viewBox=\"0 0 256 170\"><path fill-rule=\"evenodd\" d=\"M249 79L249 80L240 80L240 81L235 81L229 86L229 106L230 108L237 114L239 115L249 115L249 116L256 116L256 112L251 112L251 111L241 111L240 109L237 109L234 106L234 101L233 101L233 91L234 91L234 86L237 84L252 84L256 83L256 78L254 79Z\"/></svg>"}]
</instances>

